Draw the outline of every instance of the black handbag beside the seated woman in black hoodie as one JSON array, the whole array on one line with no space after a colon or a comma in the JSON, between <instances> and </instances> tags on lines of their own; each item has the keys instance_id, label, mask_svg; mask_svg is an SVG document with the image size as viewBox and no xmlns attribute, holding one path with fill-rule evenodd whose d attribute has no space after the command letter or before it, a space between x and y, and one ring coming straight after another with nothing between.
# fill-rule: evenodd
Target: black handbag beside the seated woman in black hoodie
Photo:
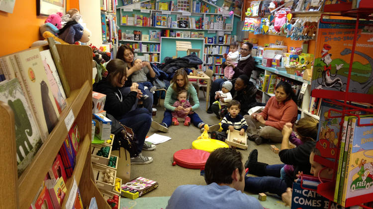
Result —
<instances>
[{"instance_id":1,"label":"black handbag beside the seated woman in black hoodie","mask_svg":"<svg viewBox=\"0 0 373 209\"><path fill-rule=\"evenodd\" d=\"M111 133L114 134L112 150L119 150L123 147L131 157L138 156L137 144L134 142L134 134L131 128L121 124L112 115L106 113L106 117L111 120Z\"/></svg>"}]
</instances>

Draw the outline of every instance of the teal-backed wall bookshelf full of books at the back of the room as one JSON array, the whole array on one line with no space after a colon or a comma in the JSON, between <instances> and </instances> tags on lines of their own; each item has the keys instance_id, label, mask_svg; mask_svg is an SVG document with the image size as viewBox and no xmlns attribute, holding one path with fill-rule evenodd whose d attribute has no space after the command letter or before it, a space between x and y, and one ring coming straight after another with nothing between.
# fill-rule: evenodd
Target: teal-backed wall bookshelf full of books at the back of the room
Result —
<instances>
[{"instance_id":1,"label":"teal-backed wall bookshelf full of books at the back of the room","mask_svg":"<svg viewBox=\"0 0 373 209\"><path fill-rule=\"evenodd\" d=\"M162 62L166 56L175 55L174 52L164 53L160 50L165 48L161 47L164 44L161 37L191 39L191 42L192 39L205 39L205 44L209 37L214 37L214 44L218 44L219 38L229 44L234 16L238 15L230 15L228 10L219 8L205 0L145 0L118 6L119 42L130 45L143 60L155 63ZM200 58L203 59L203 45L194 48L201 49ZM146 55L147 52L158 54Z\"/></svg>"}]
</instances>

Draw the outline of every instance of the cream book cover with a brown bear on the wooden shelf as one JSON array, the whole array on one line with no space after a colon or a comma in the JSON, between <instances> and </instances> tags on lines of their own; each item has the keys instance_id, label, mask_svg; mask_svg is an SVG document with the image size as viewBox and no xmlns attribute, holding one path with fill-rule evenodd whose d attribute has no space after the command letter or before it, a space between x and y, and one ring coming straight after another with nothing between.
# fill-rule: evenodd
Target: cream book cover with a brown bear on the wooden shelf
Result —
<instances>
[{"instance_id":1,"label":"cream book cover with a brown bear on the wooden shelf","mask_svg":"<svg viewBox=\"0 0 373 209\"><path fill-rule=\"evenodd\" d=\"M20 71L26 87L31 107L35 112L43 139L47 139L49 133L58 122L60 113L57 108L57 100L53 97L52 87L45 73L43 61L39 49L18 52L15 55L18 70Z\"/></svg>"}]
</instances>

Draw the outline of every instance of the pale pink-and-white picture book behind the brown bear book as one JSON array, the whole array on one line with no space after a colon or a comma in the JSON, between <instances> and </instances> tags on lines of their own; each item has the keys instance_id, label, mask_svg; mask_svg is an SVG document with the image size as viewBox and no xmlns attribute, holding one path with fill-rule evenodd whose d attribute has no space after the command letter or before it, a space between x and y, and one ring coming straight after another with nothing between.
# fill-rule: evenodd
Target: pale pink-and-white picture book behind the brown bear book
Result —
<instances>
[{"instance_id":1,"label":"pale pink-and-white picture book behind the brown bear book","mask_svg":"<svg viewBox=\"0 0 373 209\"><path fill-rule=\"evenodd\" d=\"M51 86L53 97L56 101L58 112L61 113L67 104L65 102L66 95L60 77L58 76L56 65L54 64L50 50L41 51L40 55L41 60L43 61L45 73L48 77L49 85Z\"/></svg>"}]
</instances>

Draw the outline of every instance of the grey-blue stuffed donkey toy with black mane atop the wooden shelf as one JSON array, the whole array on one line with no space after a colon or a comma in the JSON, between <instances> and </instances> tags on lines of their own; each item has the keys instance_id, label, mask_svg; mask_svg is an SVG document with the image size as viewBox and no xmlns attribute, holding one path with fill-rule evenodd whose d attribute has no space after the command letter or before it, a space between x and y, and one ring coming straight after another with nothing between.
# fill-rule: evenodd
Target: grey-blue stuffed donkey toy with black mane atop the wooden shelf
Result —
<instances>
[{"instance_id":1,"label":"grey-blue stuffed donkey toy with black mane atop the wooden shelf","mask_svg":"<svg viewBox=\"0 0 373 209\"><path fill-rule=\"evenodd\" d=\"M81 40L84 28L75 20L71 20L64 24L64 27L58 32L58 37L69 44Z\"/></svg>"}]
</instances>

